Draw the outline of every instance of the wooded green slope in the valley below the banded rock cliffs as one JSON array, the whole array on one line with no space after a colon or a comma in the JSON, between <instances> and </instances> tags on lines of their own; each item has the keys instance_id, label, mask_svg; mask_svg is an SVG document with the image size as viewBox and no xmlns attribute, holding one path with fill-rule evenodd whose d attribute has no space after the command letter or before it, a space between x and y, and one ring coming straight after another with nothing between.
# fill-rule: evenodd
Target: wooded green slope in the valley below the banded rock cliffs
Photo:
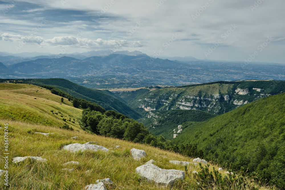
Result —
<instances>
[{"instance_id":1,"label":"wooded green slope in the valley below the banded rock cliffs","mask_svg":"<svg viewBox=\"0 0 285 190\"><path fill-rule=\"evenodd\" d=\"M199 110L154 110L138 121L142 122L155 135L162 135L165 139L171 140L173 139L173 130L176 129L176 132L178 131L178 125L186 121L205 121L215 116Z\"/></svg>"}]
</instances>

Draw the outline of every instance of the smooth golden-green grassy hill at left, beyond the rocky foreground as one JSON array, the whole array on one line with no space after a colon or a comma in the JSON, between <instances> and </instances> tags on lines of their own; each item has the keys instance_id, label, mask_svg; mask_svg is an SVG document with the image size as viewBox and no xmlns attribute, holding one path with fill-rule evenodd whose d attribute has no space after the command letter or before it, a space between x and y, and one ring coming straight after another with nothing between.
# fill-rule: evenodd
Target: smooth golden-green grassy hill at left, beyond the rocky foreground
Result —
<instances>
[{"instance_id":1,"label":"smooth golden-green grassy hill at left, beyond the rocky foreground","mask_svg":"<svg viewBox=\"0 0 285 190\"><path fill-rule=\"evenodd\" d=\"M0 97L1 119L58 127L67 123L81 130L77 120L81 119L82 110L74 108L66 98L61 102L61 97L49 90L28 84L0 83ZM64 122L62 118L75 119L75 123Z\"/></svg>"}]
</instances>

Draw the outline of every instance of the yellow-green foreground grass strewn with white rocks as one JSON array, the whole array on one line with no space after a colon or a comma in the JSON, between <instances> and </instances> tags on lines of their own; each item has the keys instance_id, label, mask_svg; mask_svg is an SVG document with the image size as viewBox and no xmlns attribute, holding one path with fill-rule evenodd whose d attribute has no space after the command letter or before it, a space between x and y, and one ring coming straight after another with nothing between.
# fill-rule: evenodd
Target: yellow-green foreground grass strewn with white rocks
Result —
<instances>
[{"instance_id":1,"label":"yellow-green foreground grass strewn with white rocks","mask_svg":"<svg viewBox=\"0 0 285 190\"><path fill-rule=\"evenodd\" d=\"M173 152L167 152L143 144L134 144L123 140L105 138L102 136L85 134L83 132L62 130L56 127L29 124L20 121L1 120L0 125L8 123L9 127L9 188L8 189L83 189L86 185L94 184L97 179L110 178L114 184L108 189L165 189L146 183L135 173L135 169L150 159L155 160L155 165L164 169L184 170L184 166L169 164L169 160L192 161ZM0 130L4 130L3 128ZM32 132L54 132L46 137ZM76 140L70 139L78 136ZM97 141L99 145L115 150L116 145L121 145L115 152L77 152L71 153L60 148L71 143L86 143ZM3 136L1 146L3 147ZM134 161L130 155L132 148L146 151L147 158ZM3 155L3 149L1 149ZM26 160L14 164L12 159L17 156L41 156L47 159L46 163L31 162ZM78 161L78 166L63 166L69 161ZM4 165L1 156L0 166ZM213 165L216 169L219 166ZM72 173L61 171L63 168L74 168ZM91 170L90 174L86 171ZM177 181L172 188L197 189L196 178L190 172L200 171L199 166L189 166L188 175L184 181ZM210 169L211 170L211 169ZM223 173L222 173L223 174ZM224 175L224 174L223 174ZM4 177L1 177L0 188L4 189ZM170 189L170 188L166 188ZM266 188L262 188L266 189ZM267 188L269 189L269 188Z\"/></svg>"}]
</instances>

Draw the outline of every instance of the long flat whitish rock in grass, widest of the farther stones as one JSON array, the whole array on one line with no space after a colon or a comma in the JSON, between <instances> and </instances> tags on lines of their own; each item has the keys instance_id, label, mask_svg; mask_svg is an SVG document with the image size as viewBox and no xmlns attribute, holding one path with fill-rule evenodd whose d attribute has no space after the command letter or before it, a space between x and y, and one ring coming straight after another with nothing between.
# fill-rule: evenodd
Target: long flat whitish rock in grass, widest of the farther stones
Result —
<instances>
[{"instance_id":1,"label":"long flat whitish rock in grass, widest of the farther stones","mask_svg":"<svg viewBox=\"0 0 285 190\"><path fill-rule=\"evenodd\" d=\"M71 152L77 152L77 151L84 151L84 150L92 150L94 152L98 150L103 150L104 152L109 151L109 149L105 148L104 146L99 146L96 144L80 144L80 143L74 143L69 144L62 147L63 150L68 150Z\"/></svg>"}]
</instances>

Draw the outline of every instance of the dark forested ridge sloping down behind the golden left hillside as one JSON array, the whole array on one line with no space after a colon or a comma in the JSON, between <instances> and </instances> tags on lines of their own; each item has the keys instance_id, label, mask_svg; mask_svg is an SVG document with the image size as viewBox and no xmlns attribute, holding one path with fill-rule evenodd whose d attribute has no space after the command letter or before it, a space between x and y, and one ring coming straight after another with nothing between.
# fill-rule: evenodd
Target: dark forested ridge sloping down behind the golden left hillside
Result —
<instances>
[{"instance_id":1,"label":"dark forested ridge sloping down behind the golden left hillside","mask_svg":"<svg viewBox=\"0 0 285 190\"><path fill-rule=\"evenodd\" d=\"M8 79L1 79L1 81L5 81ZM14 79L9 79L14 80ZM29 83L34 85L49 85L57 87L63 91L68 92L70 95L86 99L88 101L92 101L101 105L105 110L114 110L124 115L127 115L130 118L138 119L142 116L137 113L134 109L126 105L125 103L119 101L117 98L111 96L109 93L101 90L90 89L66 79L23 79L18 80L22 83Z\"/></svg>"}]
</instances>

